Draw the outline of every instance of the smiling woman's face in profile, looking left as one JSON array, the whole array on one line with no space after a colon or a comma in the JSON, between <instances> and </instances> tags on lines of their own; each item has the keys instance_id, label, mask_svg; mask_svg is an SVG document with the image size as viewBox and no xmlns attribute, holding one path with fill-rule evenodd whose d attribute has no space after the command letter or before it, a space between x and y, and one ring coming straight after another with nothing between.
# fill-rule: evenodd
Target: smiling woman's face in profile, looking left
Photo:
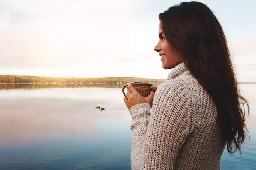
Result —
<instances>
[{"instance_id":1,"label":"smiling woman's face in profile, looking left","mask_svg":"<svg viewBox=\"0 0 256 170\"><path fill-rule=\"evenodd\" d=\"M161 22L158 28L159 42L154 50L159 52L164 69L171 69L182 63L182 57L167 42L164 32L162 31Z\"/></svg>"}]
</instances>

